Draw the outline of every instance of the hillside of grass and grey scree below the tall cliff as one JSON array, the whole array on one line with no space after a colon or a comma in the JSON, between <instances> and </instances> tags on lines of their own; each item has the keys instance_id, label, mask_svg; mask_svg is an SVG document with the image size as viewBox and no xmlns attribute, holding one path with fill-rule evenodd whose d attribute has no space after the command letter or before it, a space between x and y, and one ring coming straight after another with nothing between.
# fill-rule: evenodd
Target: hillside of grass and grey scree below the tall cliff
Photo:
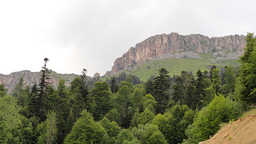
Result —
<instances>
[{"instance_id":1,"label":"hillside of grass and grey scree below the tall cliff","mask_svg":"<svg viewBox=\"0 0 256 144\"><path fill-rule=\"evenodd\" d=\"M176 52L173 54L165 54L155 58L139 66L136 70L126 73L138 76L140 80L146 81L150 76L156 76L160 68L166 68L169 75L180 75L181 71L192 72L196 75L198 69L201 71L210 70L212 65L223 68L226 65L237 66L238 53L232 52L210 52L206 54L198 54L195 52Z\"/></svg>"}]
</instances>

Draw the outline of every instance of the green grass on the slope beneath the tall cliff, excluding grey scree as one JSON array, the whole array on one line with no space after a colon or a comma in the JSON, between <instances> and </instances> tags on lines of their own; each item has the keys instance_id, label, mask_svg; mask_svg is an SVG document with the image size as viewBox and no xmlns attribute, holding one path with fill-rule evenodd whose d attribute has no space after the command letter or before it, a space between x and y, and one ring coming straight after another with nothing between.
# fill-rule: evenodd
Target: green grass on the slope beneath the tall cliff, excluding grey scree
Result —
<instances>
[{"instance_id":1,"label":"green grass on the slope beneath the tall cliff, excluding grey scree","mask_svg":"<svg viewBox=\"0 0 256 144\"><path fill-rule=\"evenodd\" d=\"M229 53L229 52L226 52ZM196 71L200 69L201 71L210 70L212 65L214 64L218 68L223 68L225 65L239 65L240 63L237 60L220 60L216 63L210 61L210 59L216 59L212 57L213 53L207 54L199 54L202 59L194 59L194 58L172 58L166 60L158 60L158 61L150 61L146 64L140 66L138 69L129 72L129 74L133 74L138 76L140 80L145 81L150 76L154 74L158 74L158 70L160 68L166 68L166 70L170 71L169 75L173 76L180 75L182 70L191 72L196 75ZM149 66L149 68L148 68Z\"/></svg>"}]
</instances>

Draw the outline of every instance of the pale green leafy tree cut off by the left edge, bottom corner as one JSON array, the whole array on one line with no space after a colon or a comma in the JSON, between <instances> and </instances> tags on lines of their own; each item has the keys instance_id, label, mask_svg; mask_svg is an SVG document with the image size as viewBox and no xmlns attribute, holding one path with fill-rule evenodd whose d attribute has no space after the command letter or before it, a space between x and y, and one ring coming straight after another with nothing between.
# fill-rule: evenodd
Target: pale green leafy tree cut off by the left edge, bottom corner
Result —
<instances>
[{"instance_id":1,"label":"pale green leafy tree cut off by the left edge, bottom corner","mask_svg":"<svg viewBox=\"0 0 256 144\"><path fill-rule=\"evenodd\" d=\"M12 96L0 97L0 143L13 140L12 131L16 131L21 124L17 101Z\"/></svg>"}]
</instances>

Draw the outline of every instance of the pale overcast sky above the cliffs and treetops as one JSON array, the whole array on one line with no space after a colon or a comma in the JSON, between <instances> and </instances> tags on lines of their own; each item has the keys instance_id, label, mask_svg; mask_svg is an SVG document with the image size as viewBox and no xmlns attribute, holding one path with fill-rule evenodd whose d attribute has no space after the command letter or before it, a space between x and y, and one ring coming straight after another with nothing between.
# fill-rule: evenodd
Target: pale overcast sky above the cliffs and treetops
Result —
<instances>
[{"instance_id":1,"label":"pale overcast sky above the cliffs and treetops","mask_svg":"<svg viewBox=\"0 0 256 144\"><path fill-rule=\"evenodd\" d=\"M130 47L157 34L246 35L255 0L1 0L0 74L47 68L110 71Z\"/></svg>"}]
</instances>

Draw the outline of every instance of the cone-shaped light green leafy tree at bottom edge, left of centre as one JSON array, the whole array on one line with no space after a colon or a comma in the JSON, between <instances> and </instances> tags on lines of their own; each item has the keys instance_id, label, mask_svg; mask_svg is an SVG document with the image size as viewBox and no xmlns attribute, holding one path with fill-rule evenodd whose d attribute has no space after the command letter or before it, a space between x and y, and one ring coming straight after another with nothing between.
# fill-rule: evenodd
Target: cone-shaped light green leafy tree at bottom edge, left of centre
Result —
<instances>
[{"instance_id":1,"label":"cone-shaped light green leafy tree at bottom edge, left of centre","mask_svg":"<svg viewBox=\"0 0 256 144\"><path fill-rule=\"evenodd\" d=\"M100 144L103 142L104 134L106 134L104 128L99 123L94 122L89 112L83 110L64 144Z\"/></svg>"}]
</instances>

